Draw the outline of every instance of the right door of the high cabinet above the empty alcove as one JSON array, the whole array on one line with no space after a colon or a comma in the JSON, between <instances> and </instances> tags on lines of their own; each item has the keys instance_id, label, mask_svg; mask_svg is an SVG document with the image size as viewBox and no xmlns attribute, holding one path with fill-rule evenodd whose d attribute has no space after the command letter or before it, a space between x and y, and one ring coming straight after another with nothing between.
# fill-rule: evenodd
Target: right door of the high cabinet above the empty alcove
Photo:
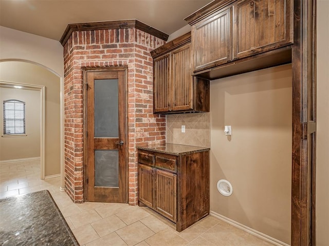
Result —
<instances>
[{"instance_id":1,"label":"right door of the high cabinet above the empty alcove","mask_svg":"<svg viewBox=\"0 0 329 246\"><path fill-rule=\"evenodd\" d=\"M233 8L234 59L291 44L290 0L243 0Z\"/></svg>"}]
</instances>

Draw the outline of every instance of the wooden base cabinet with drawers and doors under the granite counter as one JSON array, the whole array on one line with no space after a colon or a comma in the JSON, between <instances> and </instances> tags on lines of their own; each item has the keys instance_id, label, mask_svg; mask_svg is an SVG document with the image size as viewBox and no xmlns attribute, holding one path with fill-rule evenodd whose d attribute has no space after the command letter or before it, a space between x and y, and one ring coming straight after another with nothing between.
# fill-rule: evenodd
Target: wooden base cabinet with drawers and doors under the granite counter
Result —
<instances>
[{"instance_id":1,"label":"wooden base cabinet with drawers and doors under the granite counter","mask_svg":"<svg viewBox=\"0 0 329 246\"><path fill-rule=\"evenodd\" d=\"M138 150L138 205L172 222L178 232L209 214L209 150L171 155Z\"/></svg>"}]
</instances>

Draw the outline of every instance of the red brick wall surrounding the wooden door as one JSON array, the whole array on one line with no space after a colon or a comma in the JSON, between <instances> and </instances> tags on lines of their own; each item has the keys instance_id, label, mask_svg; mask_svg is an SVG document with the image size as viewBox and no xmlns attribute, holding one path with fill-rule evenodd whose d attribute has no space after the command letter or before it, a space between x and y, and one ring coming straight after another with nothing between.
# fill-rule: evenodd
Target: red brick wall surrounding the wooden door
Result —
<instances>
[{"instance_id":1,"label":"red brick wall surrounding the wooden door","mask_svg":"<svg viewBox=\"0 0 329 246\"><path fill-rule=\"evenodd\" d=\"M153 59L165 42L136 28L74 31L64 45L65 190L83 202L83 68L127 66L129 204L137 204L136 145L166 141L166 118L153 114Z\"/></svg>"}]
</instances>

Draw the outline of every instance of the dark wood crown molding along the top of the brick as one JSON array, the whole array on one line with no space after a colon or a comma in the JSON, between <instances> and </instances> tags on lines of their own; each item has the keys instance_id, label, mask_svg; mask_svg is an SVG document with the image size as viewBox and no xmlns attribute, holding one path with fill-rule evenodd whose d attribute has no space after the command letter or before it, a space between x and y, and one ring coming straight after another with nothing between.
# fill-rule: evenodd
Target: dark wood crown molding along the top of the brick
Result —
<instances>
[{"instance_id":1,"label":"dark wood crown molding along the top of the brick","mask_svg":"<svg viewBox=\"0 0 329 246\"><path fill-rule=\"evenodd\" d=\"M140 22L137 19L128 20L114 20L110 22L89 22L89 23L77 23L68 24L61 39L60 43L64 46L74 31L90 31L90 30L103 30L103 29L124 29L124 28L136 28L141 31L147 32L155 37L161 38L167 41L169 34L161 32L147 24Z\"/></svg>"}]
</instances>

